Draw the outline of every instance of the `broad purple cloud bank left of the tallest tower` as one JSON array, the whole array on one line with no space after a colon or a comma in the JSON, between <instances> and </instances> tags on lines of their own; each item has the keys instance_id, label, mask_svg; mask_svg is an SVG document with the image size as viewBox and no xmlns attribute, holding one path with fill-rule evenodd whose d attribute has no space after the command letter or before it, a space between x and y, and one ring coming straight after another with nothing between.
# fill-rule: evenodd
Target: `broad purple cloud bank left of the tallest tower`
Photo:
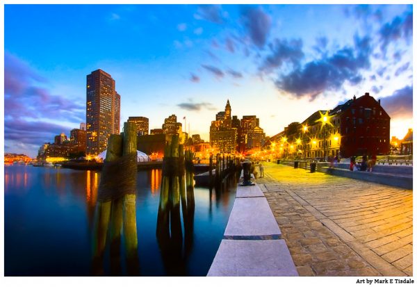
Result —
<instances>
[{"instance_id":1,"label":"broad purple cloud bank left of the tallest tower","mask_svg":"<svg viewBox=\"0 0 417 287\"><path fill-rule=\"evenodd\" d=\"M85 104L44 88L46 79L16 56L4 54L4 137L28 145L53 141L70 126L49 122L85 122Z\"/></svg>"}]
</instances>

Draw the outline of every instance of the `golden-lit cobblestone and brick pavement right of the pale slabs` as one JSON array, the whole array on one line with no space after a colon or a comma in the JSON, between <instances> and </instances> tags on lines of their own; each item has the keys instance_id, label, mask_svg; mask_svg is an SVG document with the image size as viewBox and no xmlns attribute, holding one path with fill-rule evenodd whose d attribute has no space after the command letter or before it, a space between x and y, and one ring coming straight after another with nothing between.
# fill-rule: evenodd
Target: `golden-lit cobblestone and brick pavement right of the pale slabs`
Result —
<instances>
[{"instance_id":1,"label":"golden-lit cobblestone and brick pavement right of the pale slabs","mask_svg":"<svg viewBox=\"0 0 417 287\"><path fill-rule=\"evenodd\" d=\"M264 166L256 183L300 276L412 276L412 190Z\"/></svg>"}]
</instances>

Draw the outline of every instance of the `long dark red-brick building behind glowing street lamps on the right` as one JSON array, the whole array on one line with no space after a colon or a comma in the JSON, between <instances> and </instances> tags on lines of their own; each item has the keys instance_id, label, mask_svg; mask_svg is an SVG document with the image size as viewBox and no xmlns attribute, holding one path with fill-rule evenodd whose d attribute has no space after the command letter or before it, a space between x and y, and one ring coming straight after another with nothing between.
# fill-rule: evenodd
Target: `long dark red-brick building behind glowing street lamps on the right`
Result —
<instances>
[{"instance_id":1,"label":"long dark red-brick building behind glowing street lamps on the right","mask_svg":"<svg viewBox=\"0 0 417 287\"><path fill-rule=\"evenodd\" d=\"M348 158L389 154L389 132L390 117L381 101L366 92L332 110L318 110L301 124L288 125L271 142L281 145L282 157Z\"/></svg>"}]
</instances>

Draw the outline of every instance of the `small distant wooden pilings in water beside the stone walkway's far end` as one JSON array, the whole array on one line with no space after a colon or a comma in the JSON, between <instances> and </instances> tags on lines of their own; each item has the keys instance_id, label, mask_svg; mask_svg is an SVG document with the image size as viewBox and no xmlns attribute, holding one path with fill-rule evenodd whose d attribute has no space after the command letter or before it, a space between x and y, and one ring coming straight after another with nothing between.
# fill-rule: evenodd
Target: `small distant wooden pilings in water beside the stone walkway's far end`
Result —
<instances>
[{"instance_id":1,"label":"small distant wooden pilings in water beside the stone walkway's far end","mask_svg":"<svg viewBox=\"0 0 417 287\"><path fill-rule=\"evenodd\" d=\"M224 154L216 154L215 162L213 162L213 159L213 155L211 155L208 162L208 174L211 186L218 186L223 179L229 176L229 174L240 170L240 158L238 156L224 156ZM214 176L213 170L215 171Z\"/></svg>"}]
</instances>

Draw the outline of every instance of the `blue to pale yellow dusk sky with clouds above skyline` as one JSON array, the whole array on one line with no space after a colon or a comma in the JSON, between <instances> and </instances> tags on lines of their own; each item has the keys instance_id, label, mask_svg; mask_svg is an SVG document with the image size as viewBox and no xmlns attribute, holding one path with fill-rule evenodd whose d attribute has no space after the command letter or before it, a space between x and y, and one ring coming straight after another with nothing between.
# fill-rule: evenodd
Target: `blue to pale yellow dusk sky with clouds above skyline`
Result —
<instances>
[{"instance_id":1,"label":"blue to pale yellow dusk sky with clouds above skyline","mask_svg":"<svg viewBox=\"0 0 417 287\"><path fill-rule=\"evenodd\" d=\"M115 79L121 119L186 117L209 139L227 99L267 136L365 92L391 136L412 127L411 5L4 6L4 149L36 156L85 122L86 76Z\"/></svg>"}]
</instances>

